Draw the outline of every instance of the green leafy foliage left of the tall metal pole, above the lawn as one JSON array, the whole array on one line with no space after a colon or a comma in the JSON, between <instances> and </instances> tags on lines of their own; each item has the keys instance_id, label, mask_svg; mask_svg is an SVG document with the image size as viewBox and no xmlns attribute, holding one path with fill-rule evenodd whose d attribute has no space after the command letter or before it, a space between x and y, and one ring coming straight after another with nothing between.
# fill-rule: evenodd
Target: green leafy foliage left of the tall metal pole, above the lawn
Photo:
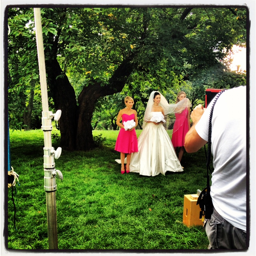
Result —
<instances>
[{"instance_id":1,"label":"green leafy foliage left of the tall metal pole, above the lawn","mask_svg":"<svg viewBox=\"0 0 256 256\"><path fill-rule=\"evenodd\" d=\"M21 129L29 92L34 90L31 84L36 83L36 88L38 88L39 84L37 51L34 27L33 23L31 23L32 15L29 9L10 8L9 15L12 17L12 19L8 19L8 25L10 26L10 34L8 35L9 123L12 129ZM41 97L41 94L39 95ZM38 128L36 124L37 113L40 109L42 107L33 112L32 122L34 128Z\"/></svg>"}]
</instances>

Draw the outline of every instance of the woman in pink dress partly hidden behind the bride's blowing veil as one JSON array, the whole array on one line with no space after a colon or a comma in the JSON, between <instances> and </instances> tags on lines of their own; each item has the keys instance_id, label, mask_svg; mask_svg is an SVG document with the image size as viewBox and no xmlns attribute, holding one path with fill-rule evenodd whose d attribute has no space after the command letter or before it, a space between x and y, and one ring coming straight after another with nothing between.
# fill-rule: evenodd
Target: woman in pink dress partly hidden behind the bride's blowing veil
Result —
<instances>
[{"instance_id":1,"label":"woman in pink dress partly hidden behind the bride's blowing veil","mask_svg":"<svg viewBox=\"0 0 256 256\"><path fill-rule=\"evenodd\" d=\"M176 103L186 98L186 93L183 91L178 92ZM173 125L172 145L176 152L180 147L178 159L181 161L184 153L184 140L185 135L190 129L190 108L185 108L181 113L175 113L176 120ZM182 167L183 168L183 167Z\"/></svg>"}]
</instances>

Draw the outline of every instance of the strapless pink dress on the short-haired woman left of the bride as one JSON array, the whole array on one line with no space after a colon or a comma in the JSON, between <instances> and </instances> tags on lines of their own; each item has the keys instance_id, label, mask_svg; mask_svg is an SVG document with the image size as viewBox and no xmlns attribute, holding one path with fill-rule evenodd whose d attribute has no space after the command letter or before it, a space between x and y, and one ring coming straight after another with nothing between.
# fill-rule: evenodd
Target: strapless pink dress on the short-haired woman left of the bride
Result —
<instances>
[{"instance_id":1,"label":"strapless pink dress on the short-haired woman left of the bride","mask_svg":"<svg viewBox=\"0 0 256 256\"><path fill-rule=\"evenodd\" d=\"M134 120L134 114L122 115L122 122L127 122L128 120ZM132 131L125 131L124 128L120 128L116 139L115 150L121 153L131 154L133 152L138 152L138 142L135 129Z\"/></svg>"}]
</instances>

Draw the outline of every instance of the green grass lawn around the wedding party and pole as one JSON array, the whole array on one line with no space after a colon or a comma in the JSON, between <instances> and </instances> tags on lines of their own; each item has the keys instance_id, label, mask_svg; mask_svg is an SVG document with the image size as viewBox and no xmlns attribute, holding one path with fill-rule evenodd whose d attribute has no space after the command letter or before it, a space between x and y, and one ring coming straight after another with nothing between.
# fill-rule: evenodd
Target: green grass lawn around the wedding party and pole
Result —
<instances>
[{"instance_id":1,"label":"green grass lawn around the wedding party and pole","mask_svg":"<svg viewBox=\"0 0 256 256\"><path fill-rule=\"evenodd\" d=\"M56 132L56 131L54 131ZM140 130L137 130L137 136ZM171 131L168 131L171 132ZM62 150L55 167L59 249L207 249L201 226L183 223L183 200L206 185L204 149L185 153L184 171L155 177L121 175L114 150L118 131L93 131L106 137L88 152ZM8 248L48 249L41 130L10 132L11 163L19 177L14 193L8 189ZM52 141L56 149L58 144ZM151 211L150 211L150 210Z\"/></svg>"}]
</instances>

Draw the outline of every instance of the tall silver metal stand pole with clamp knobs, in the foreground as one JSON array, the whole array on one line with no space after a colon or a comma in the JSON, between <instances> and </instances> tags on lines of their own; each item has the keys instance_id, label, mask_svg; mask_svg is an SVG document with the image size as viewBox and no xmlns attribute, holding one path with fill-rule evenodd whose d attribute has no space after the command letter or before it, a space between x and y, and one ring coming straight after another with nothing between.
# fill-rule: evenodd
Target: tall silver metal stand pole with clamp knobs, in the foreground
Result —
<instances>
[{"instance_id":1,"label":"tall silver metal stand pole with clamp knobs, in the foreground","mask_svg":"<svg viewBox=\"0 0 256 256\"><path fill-rule=\"evenodd\" d=\"M47 94L47 84L46 84L44 45L43 45L42 21L41 21L40 8L34 8L34 15L35 15L36 44L37 44L40 85L41 85L41 94L42 94L42 106L43 106L42 130L44 131L44 190L46 192L48 243L49 243L49 249L58 249L57 211L56 211L56 190L57 190L56 174L61 174L61 173L59 170L55 169L54 156L57 153L57 150L59 152L58 155L60 155L61 148L58 148L56 151L54 150L54 148L52 148L52 136L51 136L52 117L55 115L52 114L51 111L49 111L49 107L48 107L48 94ZM58 115L59 117L60 117L60 113ZM55 119L55 120L58 120L58 119ZM58 157L55 156L55 158L57 159L59 158L59 156ZM62 177L62 174L61 174L61 177Z\"/></svg>"}]
</instances>

